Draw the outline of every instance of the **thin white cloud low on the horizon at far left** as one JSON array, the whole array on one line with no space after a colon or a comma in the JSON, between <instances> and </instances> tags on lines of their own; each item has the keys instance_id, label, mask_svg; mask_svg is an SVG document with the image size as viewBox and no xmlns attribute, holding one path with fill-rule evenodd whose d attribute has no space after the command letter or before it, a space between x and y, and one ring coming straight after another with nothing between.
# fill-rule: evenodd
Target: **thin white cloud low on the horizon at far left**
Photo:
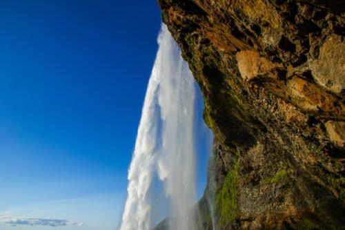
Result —
<instances>
[{"instance_id":1,"label":"thin white cloud low on the horizon at far left","mask_svg":"<svg viewBox=\"0 0 345 230\"><path fill-rule=\"evenodd\" d=\"M31 225L31 226L83 226L82 222L72 222L69 220L59 220L59 219L45 219L45 218L17 218L11 215L1 215L0 214L0 224L11 224L16 225Z\"/></svg>"}]
</instances>

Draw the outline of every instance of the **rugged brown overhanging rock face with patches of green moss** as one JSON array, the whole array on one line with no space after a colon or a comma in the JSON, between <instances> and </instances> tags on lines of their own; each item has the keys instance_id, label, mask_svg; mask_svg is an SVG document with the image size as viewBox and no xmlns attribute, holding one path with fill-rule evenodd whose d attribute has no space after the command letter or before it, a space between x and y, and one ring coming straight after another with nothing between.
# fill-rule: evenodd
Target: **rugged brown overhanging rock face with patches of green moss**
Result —
<instances>
[{"instance_id":1,"label":"rugged brown overhanging rock face with patches of green moss","mask_svg":"<svg viewBox=\"0 0 345 230\"><path fill-rule=\"evenodd\" d=\"M215 133L216 228L345 229L344 1L159 5Z\"/></svg>"}]
</instances>

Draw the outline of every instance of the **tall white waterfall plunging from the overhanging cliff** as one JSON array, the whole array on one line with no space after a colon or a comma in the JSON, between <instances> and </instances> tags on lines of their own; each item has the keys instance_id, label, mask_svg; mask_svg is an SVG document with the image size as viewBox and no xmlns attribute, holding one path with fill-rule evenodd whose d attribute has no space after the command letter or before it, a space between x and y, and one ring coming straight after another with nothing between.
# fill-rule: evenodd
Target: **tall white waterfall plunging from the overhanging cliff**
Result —
<instances>
[{"instance_id":1,"label":"tall white waterfall plunging from the overhanging cliff","mask_svg":"<svg viewBox=\"0 0 345 230\"><path fill-rule=\"evenodd\" d=\"M135 150L128 171L128 197L120 230L152 229L151 191L161 182L169 229L187 230L195 202L194 111L195 82L188 65L164 24L152 69ZM156 211L157 212L157 211Z\"/></svg>"}]
</instances>

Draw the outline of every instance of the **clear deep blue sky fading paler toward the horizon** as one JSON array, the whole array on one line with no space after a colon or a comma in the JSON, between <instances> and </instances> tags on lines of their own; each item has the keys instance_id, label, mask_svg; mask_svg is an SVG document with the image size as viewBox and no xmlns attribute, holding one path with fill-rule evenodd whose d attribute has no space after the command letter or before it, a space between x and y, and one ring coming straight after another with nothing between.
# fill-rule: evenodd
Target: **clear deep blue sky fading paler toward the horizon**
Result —
<instances>
[{"instance_id":1,"label":"clear deep blue sky fading paler toward the horizon","mask_svg":"<svg viewBox=\"0 0 345 230\"><path fill-rule=\"evenodd\" d=\"M155 0L0 0L1 230L116 229L160 17Z\"/></svg>"}]
</instances>

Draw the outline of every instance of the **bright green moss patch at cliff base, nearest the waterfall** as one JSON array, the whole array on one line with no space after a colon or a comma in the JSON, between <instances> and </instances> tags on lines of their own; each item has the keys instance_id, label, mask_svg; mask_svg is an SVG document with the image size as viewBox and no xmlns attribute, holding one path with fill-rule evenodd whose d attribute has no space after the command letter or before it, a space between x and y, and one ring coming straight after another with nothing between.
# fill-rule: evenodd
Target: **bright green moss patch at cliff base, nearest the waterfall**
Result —
<instances>
[{"instance_id":1,"label":"bright green moss patch at cliff base, nearest the waterfall","mask_svg":"<svg viewBox=\"0 0 345 230\"><path fill-rule=\"evenodd\" d=\"M226 175L223 186L216 195L216 206L219 217L219 226L230 227L235 224L238 216L238 171L236 163L234 169Z\"/></svg>"}]
</instances>

